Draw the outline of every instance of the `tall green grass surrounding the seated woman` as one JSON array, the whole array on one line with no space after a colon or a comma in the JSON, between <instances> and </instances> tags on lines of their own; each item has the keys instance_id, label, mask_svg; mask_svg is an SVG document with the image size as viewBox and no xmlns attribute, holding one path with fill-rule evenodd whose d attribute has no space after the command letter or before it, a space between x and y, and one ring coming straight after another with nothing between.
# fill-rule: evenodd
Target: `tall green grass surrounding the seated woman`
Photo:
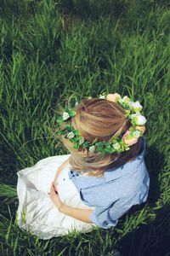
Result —
<instances>
[{"instance_id":1,"label":"tall green grass surrounding the seated woman","mask_svg":"<svg viewBox=\"0 0 170 256\"><path fill-rule=\"evenodd\" d=\"M170 255L170 3L1 0L0 254ZM16 225L16 172L69 154L53 136L59 104L101 92L144 106L150 193L116 228L38 240Z\"/></svg>"}]
</instances>

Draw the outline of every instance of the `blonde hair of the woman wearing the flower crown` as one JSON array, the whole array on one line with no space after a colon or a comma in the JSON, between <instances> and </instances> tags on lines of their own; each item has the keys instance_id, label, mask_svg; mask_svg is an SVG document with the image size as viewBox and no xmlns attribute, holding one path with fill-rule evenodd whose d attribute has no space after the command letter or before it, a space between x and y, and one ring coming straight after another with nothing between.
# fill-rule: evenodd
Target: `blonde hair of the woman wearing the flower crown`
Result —
<instances>
[{"instance_id":1,"label":"blonde hair of the woman wearing the flower crown","mask_svg":"<svg viewBox=\"0 0 170 256\"><path fill-rule=\"evenodd\" d=\"M99 98L82 99L77 105L76 115L71 119L71 125L90 143L96 137L99 141L110 142L113 137L121 136L130 127L130 120L125 118L125 113L125 110L115 102ZM88 171L88 175L96 177L103 176L107 169L122 166L127 161L133 160L141 148L139 139L138 143L121 154L104 156L100 152L90 153L82 147L72 148L73 144L65 138L65 135L61 136L60 140L71 153L69 159L71 170L82 173Z\"/></svg>"}]
</instances>

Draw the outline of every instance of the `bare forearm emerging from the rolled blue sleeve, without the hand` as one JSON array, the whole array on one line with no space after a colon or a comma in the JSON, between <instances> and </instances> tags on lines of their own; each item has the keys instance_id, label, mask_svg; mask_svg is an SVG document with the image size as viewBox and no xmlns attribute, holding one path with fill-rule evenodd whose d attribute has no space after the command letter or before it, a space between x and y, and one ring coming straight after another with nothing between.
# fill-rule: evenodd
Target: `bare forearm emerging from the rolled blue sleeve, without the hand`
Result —
<instances>
[{"instance_id":1,"label":"bare forearm emerging from the rolled blue sleeve, without the hand","mask_svg":"<svg viewBox=\"0 0 170 256\"><path fill-rule=\"evenodd\" d=\"M92 223L91 219L89 218L90 214L93 212L93 210L91 210L91 209L68 207L68 206L62 204L59 207L59 212L63 212L66 215L69 215L73 218L77 218L84 222Z\"/></svg>"}]
</instances>

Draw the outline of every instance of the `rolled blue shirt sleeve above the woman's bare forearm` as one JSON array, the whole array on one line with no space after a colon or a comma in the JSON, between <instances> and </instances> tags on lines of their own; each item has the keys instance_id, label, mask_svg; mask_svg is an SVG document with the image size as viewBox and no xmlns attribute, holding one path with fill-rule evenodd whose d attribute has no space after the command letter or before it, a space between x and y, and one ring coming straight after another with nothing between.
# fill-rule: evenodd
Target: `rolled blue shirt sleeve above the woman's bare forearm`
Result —
<instances>
[{"instance_id":1,"label":"rolled blue shirt sleeve above the woman's bare forearm","mask_svg":"<svg viewBox=\"0 0 170 256\"><path fill-rule=\"evenodd\" d=\"M116 226L118 218L121 218L133 205L137 204L135 195L122 197L114 201L109 207L96 207L90 215L90 219L94 224L107 230L112 226Z\"/></svg>"}]
</instances>

